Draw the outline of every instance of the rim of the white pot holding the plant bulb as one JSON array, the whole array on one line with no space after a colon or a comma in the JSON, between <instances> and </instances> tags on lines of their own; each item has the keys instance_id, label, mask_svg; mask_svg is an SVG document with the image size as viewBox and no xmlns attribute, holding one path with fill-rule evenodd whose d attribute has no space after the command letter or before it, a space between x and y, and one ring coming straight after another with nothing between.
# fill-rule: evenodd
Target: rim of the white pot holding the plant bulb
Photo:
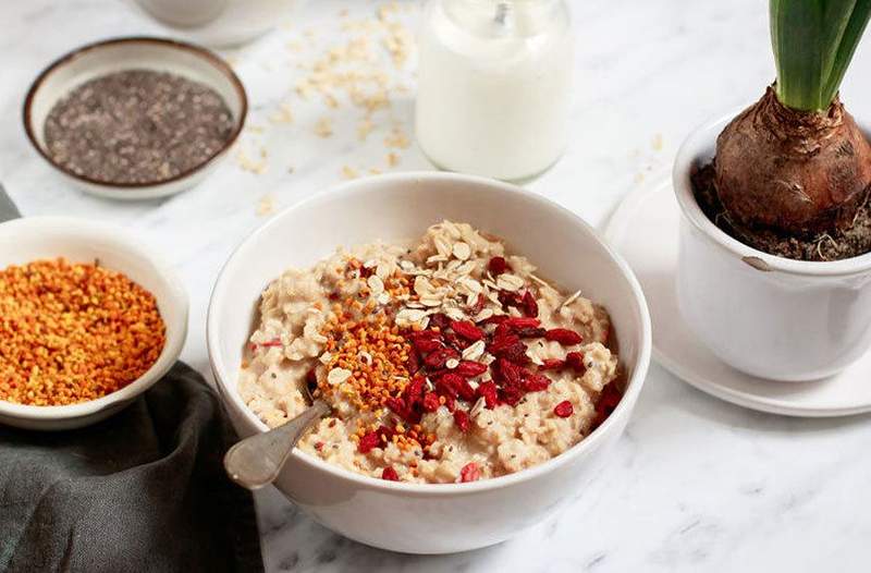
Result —
<instances>
[{"instance_id":1,"label":"rim of the white pot holding the plant bulb","mask_svg":"<svg viewBox=\"0 0 871 573\"><path fill-rule=\"evenodd\" d=\"M858 257L827 261L797 260L771 255L729 236L704 215L692 194L691 183L688 183L689 170L692 163L699 159L701 147L709 143L715 143L716 136L723 127L746 108L746 106L737 108L726 115L702 123L684 139L684 143L677 150L672 180L677 203L680 205L684 217L692 223L710 243L739 259L746 257L761 259L768 265L770 270L803 277L844 277L871 270L871 253L866 253ZM713 137L711 136L712 134Z\"/></svg>"}]
</instances>

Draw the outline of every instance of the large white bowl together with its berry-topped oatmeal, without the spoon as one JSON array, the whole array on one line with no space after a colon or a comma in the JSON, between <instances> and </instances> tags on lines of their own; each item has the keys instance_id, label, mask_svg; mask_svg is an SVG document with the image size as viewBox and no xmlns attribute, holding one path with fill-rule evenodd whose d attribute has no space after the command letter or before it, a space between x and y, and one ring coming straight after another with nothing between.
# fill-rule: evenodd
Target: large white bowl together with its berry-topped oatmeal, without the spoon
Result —
<instances>
[{"instance_id":1,"label":"large white bowl together with its berry-topped oatmeal, without the spoon","mask_svg":"<svg viewBox=\"0 0 871 573\"><path fill-rule=\"evenodd\" d=\"M332 407L277 487L343 535L417 553L556 511L606 461L650 359L643 295L589 225L447 173L275 216L222 270L207 331L241 435L299 414L306 387Z\"/></svg>"}]
</instances>

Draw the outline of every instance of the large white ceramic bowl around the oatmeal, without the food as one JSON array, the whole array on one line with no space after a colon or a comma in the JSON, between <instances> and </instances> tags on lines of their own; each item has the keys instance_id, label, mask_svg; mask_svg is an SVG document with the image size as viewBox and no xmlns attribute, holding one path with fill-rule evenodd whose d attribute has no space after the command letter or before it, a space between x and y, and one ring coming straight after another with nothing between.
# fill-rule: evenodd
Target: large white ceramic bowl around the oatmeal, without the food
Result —
<instances>
[{"instance_id":1,"label":"large white ceramic bowl around the oatmeal, without the food","mask_svg":"<svg viewBox=\"0 0 871 573\"><path fill-rule=\"evenodd\" d=\"M261 291L291 266L307 267L339 245L414 240L443 219L507 241L565 289L582 289L611 313L626 394L575 448L524 472L456 485L414 485L349 473L295 451L275 485L315 520L367 545L444 553L496 544L575 497L622 434L650 361L650 319L626 264L580 218L518 187L449 173L400 173L354 181L277 215L245 240L221 271L208 317L208 348L221 397L242 436L266 425L236 388L243 348Z\"/></svg>"}]
</instances>

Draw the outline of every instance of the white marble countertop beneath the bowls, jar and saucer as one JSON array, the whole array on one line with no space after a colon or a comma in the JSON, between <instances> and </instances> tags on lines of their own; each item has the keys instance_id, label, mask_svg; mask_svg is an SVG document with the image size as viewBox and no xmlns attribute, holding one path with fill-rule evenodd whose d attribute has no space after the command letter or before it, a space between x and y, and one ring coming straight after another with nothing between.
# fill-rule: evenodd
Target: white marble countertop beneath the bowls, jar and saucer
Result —
<instances>
[{"instance_id":1,"label":"white marble countertop beneath the bowls, jar and saucer","mask_svg":"<svg viewBox=\"0 0 871 573\"><path fill-rule=\"evenodd\" d=\"M666 174L695 125L761 95L773 78L766 2L571 3L579 34L574 142L529 188L599 224L624 194ZM402 4L400 17L413 25L419 3ZM234 157L191 192L122 204L73 191L49 171L25 139L22 100L37 71L66 50L161 28L119 0L3 2L0 181L25 215L113 221L163 253L192 296L183 358L210 377L206 307L232 247L270 210L340 181L344 166L387 170L383 139L394 126L410 136L413 61L391 71L410 89L376 114L365 143L356 134L359 109L331 110L294 93L304 72L296 63L347 41L340 11L372 19L379 5L309 2L272 35L224 52L249 90L254 129L242 145L255 158L268 149L263 173L243 170ZM867 39L843 90L866 118L869 65ZM274 121L281 102L291 105L293 123ZM322 117L333 119L331 137L315 134ZM413 145L393 150L400 162L391 170L431 169ZM269 571L868 571L869 442L868 416L758 414L653 366L608 471L565 512L519 538L456 556L393 554L332 534L268 490L257 496L263 551Z\"/></svg>"}]
</instances>

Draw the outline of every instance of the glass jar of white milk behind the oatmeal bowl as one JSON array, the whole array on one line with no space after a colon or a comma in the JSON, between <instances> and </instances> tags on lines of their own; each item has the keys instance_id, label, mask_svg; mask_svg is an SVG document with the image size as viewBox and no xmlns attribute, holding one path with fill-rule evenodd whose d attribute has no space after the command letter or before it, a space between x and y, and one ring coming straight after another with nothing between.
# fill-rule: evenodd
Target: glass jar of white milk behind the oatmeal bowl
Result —
<instances>
[{"instance_id":1,"label":"glass jar of white milk behind the oatmeal bowl","mask_svg":"<svg viewBox=\"0 0 871 573\"><path fill-rule=\"evenodd\" d=\"M562 0L432 0L420 38L416 132L442 169L502 180L565 150L574 68Z\"/></svg>"}]
</instances>

